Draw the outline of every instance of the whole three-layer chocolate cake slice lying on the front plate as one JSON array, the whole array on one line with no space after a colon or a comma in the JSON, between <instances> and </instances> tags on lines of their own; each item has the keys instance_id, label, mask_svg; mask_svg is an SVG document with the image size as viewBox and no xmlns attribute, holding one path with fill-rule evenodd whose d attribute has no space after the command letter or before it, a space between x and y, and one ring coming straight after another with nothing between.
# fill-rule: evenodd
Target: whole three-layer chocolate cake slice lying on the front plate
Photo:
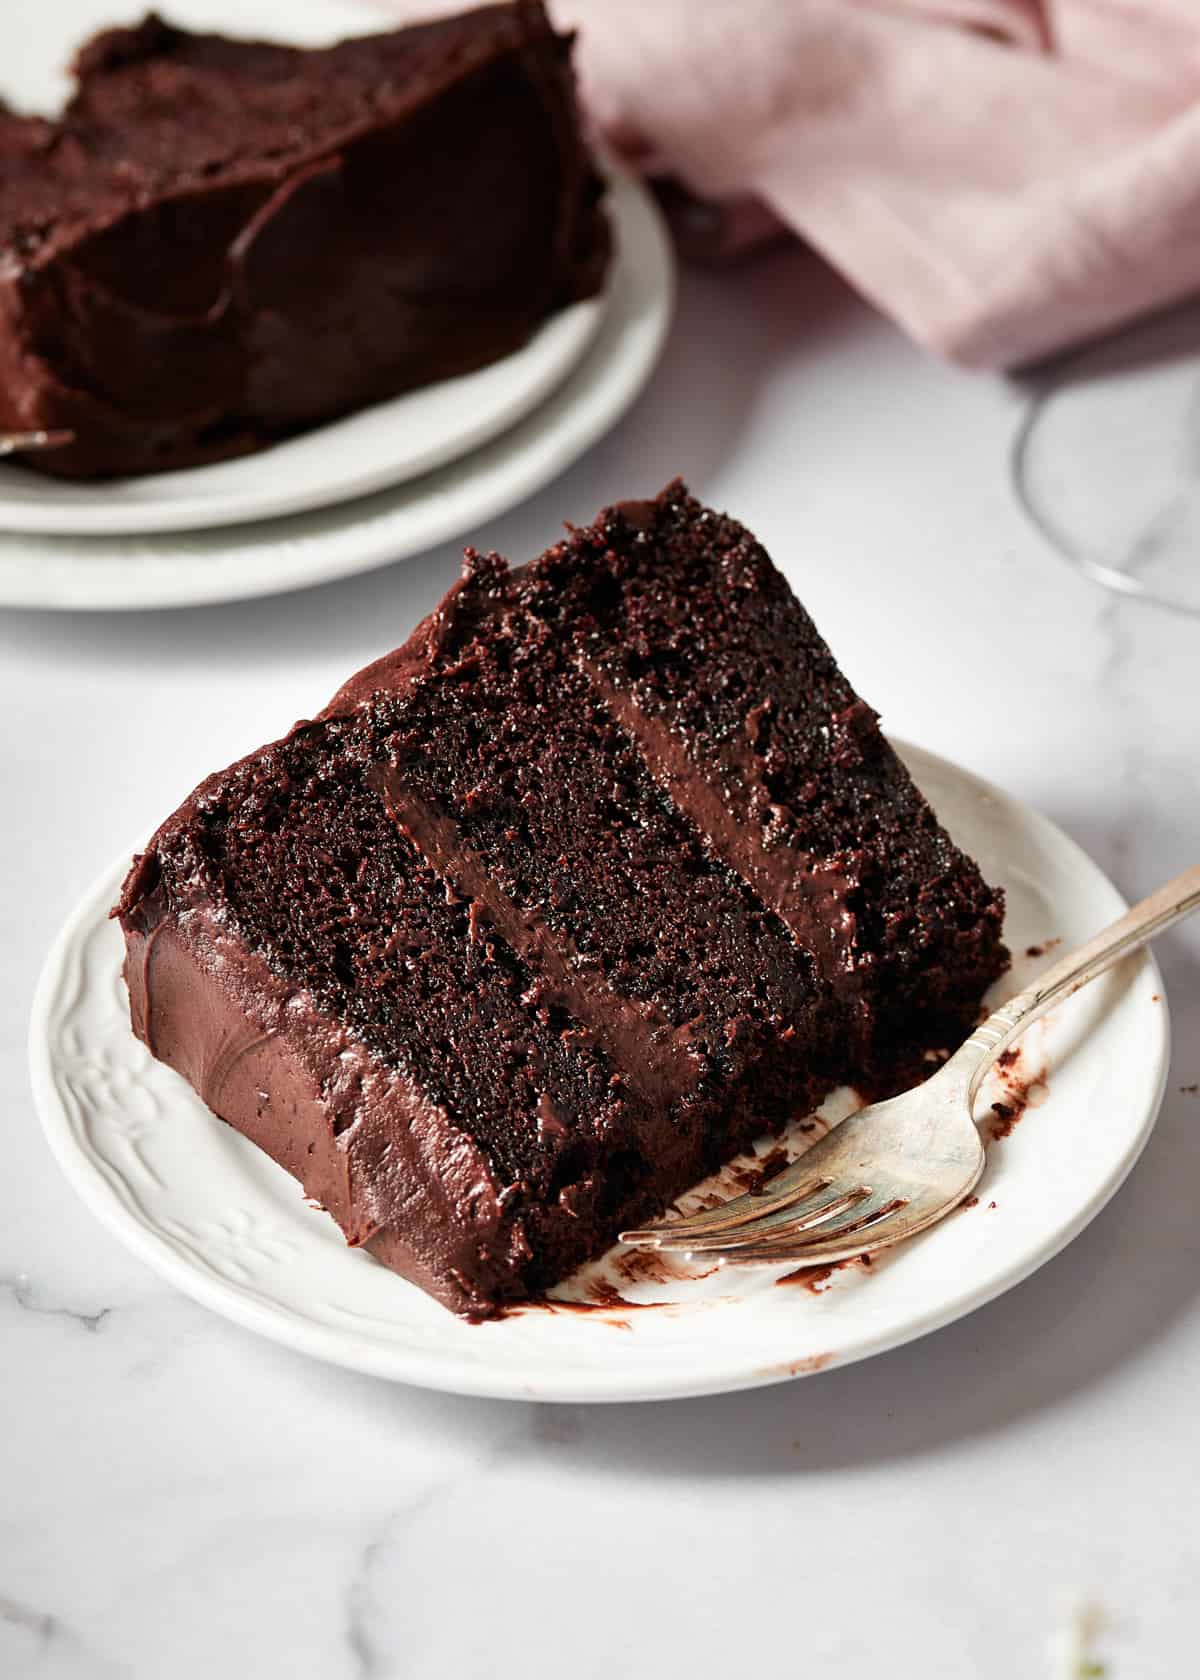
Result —
<instances>
[{"instance_id":1,"label":"whole three-layer chocolate cake slice lying on the front plate","mask_svg":"<svg viewBox=\"0 0 1200 1680\"><path fill-rule=\"evenodd\" d=\"M682 486L462 581L212 776L119 906L138 1035L351 1243L472 1317L1005 966L755 539Z\"/></svg>"}]
</instances>

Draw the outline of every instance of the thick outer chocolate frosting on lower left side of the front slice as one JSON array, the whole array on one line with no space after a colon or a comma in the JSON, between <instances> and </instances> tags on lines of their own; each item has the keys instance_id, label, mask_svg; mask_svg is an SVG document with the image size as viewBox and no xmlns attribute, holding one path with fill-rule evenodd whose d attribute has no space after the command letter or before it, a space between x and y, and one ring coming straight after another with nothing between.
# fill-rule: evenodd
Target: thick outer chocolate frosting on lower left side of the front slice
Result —
<instances>
[{"instance_id":1,"label":"thick outer chocolate frosting on lower left side of the front slice","mask_svg":"<svg viewBox=\"0 0 1200 1680\"><path fill-rule=\"evenodd\" d=\"M220 1119L445 1305L486 1315L528 1257L472 1139L282 981L208 904L156 887L123 917L133 1030Z\"/></svg>"}]
</instances>

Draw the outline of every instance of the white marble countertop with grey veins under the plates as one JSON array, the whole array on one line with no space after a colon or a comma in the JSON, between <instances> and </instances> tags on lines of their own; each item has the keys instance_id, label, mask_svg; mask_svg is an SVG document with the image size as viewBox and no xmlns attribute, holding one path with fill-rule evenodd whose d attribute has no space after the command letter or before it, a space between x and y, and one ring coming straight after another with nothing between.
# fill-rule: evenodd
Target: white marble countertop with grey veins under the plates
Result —
<instances>
[{"instance_id":1,"label":"white marble countertop with grey veins under the plates","mask_svg":"<svg viewBox=\"0 0 1200 1680\"><path fill-rule=\"evenodd\" d=\"M1050 553L1010 479L1030 400L782 250L686 276L627 422L462 541L529 554L686 474L891 731L1134 897L1200 853L1200 622ZM1067 1673L1079 1606L1111 1677L1193 1672L1198 926L1160 944L1168 1097L1096 1223L936 1336L745 1396L523 1406L328 1369L160 1284L61 1178L24 1043L59 922L203 773L398 642L459 546L229 608L0 615L0 1673L1037 1680Z\"/></svg>"}]
</instances>

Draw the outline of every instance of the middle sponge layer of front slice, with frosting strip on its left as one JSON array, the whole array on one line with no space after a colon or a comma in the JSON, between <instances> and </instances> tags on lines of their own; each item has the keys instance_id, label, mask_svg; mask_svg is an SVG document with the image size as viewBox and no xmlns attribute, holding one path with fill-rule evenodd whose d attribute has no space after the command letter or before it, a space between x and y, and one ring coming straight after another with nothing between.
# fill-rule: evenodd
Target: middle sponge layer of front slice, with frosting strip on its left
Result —
<instances>
[{"instance_id":1,"label":"middle sponge layer of front slice, with frosting strip on its left","mask_svg":"<svg viewBox=\"0 0 1200 1680\"><path fill-rule=\"evenodd\" d=\"M835 1060L812 958L704 847L587 675L521 608L484 633L469 613L435 670L373 707L373 781L425 862L652 1102Z\"/></svg>"}]
</instances>

